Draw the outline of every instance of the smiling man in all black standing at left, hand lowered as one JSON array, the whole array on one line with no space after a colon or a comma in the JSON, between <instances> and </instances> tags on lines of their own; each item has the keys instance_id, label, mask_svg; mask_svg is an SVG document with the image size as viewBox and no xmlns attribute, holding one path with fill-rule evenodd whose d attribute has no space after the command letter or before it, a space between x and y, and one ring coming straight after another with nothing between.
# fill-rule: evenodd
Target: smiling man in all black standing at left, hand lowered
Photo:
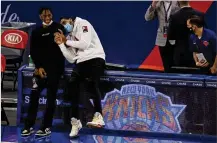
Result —
<instances>
[{"instance_id":1,"label":"smiling man in all black standing at left, hand lowered","mask_svg":"<svg viewBox=\"0 0 217 143\"><path fill-rule=\"evenodd\" d=\"M30 55L35 64L35 72L32 79L33 85L28 115L24 129L21 131L22 136L28 136L33 133L39 104L38 100L45 86L47 88L46 110L42 126L36 132L36 136L51 134L50 127L52 126L56 106L58 84L64 72L65 58L59 46L54 42L54 33L58 32L58 29L65 32L65 29L61 24L52 21L53 15L50 8L41 8L39 16L43 23L40 27L34 29L31 35Z\"/></svg>"}]
</instances>

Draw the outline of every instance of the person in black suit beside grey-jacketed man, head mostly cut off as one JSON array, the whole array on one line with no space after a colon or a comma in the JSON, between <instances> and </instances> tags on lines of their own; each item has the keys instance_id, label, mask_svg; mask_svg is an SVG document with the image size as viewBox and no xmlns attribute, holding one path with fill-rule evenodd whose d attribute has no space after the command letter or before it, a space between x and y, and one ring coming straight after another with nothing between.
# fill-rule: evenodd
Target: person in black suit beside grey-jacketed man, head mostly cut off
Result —
<instances>
[{"instance_id":1,"label":"person in black suit beside grey-jacketed man, head mostly cut off","mask_svg":"<svg viewBox=\"0 0 217 143\"><path fill-rule=\"evenodd\" d=\"M178 2L181 9L171 15L168 31L168 39L175 40L173 61L175 66L194 67L192 53L189 50L189 36L191 31L186 27L186 22L192 15L198 15L203 18L204 14L193 9L189 5L189 1Z\"/></svg>"}]
</instances>

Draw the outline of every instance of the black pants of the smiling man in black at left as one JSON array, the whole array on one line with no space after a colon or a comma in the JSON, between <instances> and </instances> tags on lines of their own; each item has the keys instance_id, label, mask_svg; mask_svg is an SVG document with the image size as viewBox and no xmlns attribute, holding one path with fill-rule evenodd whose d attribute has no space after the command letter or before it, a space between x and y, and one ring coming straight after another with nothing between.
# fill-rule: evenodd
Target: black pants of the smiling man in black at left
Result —
<instances>
[{"instance_id":1,"label":"black pants of the smiling man in black at left","mask_svg":"<svg viewBox=\"0 0 217 143\"><path fill-rule=\"evenodd\" d=\"M39 104L38 100L41 91L45 87L47 88L47 102L41 129L50 128L52 126L53 115L56 106L56 94L58 90L60 77L61 74L55 72L47 73L46 79L42 79L38 75L33 75L33 85L30 95L30 103L28 108L28 115L25 122L25 128L33 127L35 124Z\"/></svg>"}]
</instances>

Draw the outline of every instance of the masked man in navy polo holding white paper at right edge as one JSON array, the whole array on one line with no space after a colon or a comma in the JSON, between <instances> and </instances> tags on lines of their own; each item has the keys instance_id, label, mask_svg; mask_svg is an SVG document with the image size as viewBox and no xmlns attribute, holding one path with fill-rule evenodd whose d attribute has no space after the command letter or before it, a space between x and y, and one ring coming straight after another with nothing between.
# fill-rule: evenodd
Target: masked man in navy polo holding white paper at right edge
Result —
<instances>
[{"instance_id":1,"label":"masked man in navy polo holding white paper at right edge","mask_svg":"<svg viewBox=\"0 0 217 143\"><path fill-rule=\"evenodd\" d=\"M193 51L194 61L200 67L202 74L217 73L217 48L215 32L204 28L203 20L199 16L192 16L187 27L193 32L190 36L190 49Z\"/></svg>"}]
</instances>

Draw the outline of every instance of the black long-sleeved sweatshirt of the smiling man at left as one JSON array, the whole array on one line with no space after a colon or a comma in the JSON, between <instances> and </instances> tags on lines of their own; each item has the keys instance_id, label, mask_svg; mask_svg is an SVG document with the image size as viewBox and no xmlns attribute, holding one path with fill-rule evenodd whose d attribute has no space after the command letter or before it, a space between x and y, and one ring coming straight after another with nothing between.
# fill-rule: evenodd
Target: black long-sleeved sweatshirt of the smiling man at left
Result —
<instances>
[{"instance_id":1,"label":"black long-sleeved sweatshirt of the smiling man at left","mask_svg":"<svg viewBox=\"0 0 217 143\"><path fill-rule=\"evenodd\" d=\"M42 26L33 30L31 35L30 55L36 68L44 68L46 72L63 72L65 58L54 42L54 33L58 29L65 33L64 27L56 22L44 28Z\"/></svg>"}]
</instances>

